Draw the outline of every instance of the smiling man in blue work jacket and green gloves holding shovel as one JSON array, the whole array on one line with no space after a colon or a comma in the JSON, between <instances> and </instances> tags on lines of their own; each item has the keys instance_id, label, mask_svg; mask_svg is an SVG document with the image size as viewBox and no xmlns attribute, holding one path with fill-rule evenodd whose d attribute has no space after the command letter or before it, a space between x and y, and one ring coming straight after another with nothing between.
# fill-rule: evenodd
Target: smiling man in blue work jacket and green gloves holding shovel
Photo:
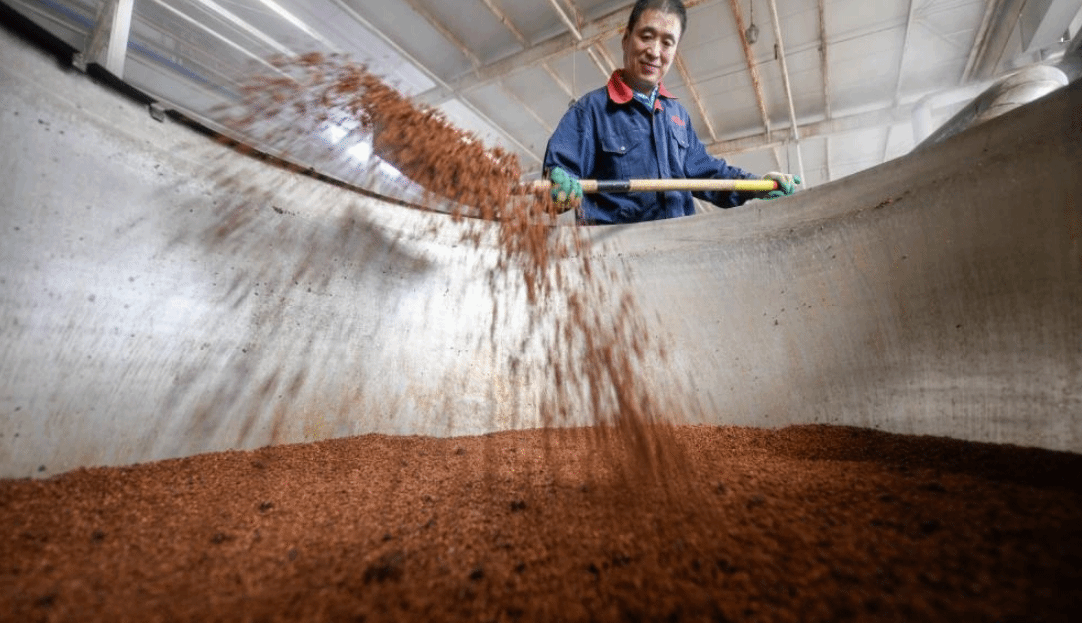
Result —
<instances>
[{"instance_id":1,"label":"smiling man in blue work jacket and green gloves holding shovel","mask_svg":"<svg viewBox=\"0 0 1082 623\"><path fill-rule=\"evenodd\" d=\"M544 169L553 200L578 207L584 224L636 223L695 213L691 193L597 194L582 197L580 178L724 178L756 176L707 154L687 110L661 83L687 26L683 0L638 0L623 32L623 69L608 85L584 95L564 115L549 140ZM799 177L767 173L791 195ZM696 193L722 208L743 203L736 193ZM581 204L580 204L581 203Z\"/></svg>"}]
</instances>

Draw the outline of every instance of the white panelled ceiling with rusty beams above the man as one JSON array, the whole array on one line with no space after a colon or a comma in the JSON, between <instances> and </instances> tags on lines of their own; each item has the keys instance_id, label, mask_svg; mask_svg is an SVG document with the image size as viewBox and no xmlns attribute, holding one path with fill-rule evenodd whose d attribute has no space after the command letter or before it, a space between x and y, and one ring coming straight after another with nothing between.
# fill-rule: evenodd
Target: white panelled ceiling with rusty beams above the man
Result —
<instances>
[{"instance_id":1,"label":"white panelled ceiling with rusty beams above the man","mask_svg":"<svg viewBox=\"0 0 1082 623\"><path fill-rule=\"evenodd\" d=\"M128 0L131 2L132 0ZM621 65L628 0L138 0L120 65L106 0L3 0L126 82L204 124L267 58L338 52L366 64L460 128L540 174L568 104ZM124 0L108 0L119 4ZM688 0L665 85L708 149L754 172L803 172L807 186L908 153L914 110L941 123L981 88L1055 63L1082 26L1082 0ZM745 34L754 24L757 37ZM119 34L118 34L119 32ZM98 39L100 42L100 39ZM371 149L349 128L302 157L372 186ZM273 146L270 146L273 147ZM367 164L367 168L362 164ZM380 169L384 180L394 176ZM390 171L390 172L388 172Z\"/></svg>"}]
</instances>

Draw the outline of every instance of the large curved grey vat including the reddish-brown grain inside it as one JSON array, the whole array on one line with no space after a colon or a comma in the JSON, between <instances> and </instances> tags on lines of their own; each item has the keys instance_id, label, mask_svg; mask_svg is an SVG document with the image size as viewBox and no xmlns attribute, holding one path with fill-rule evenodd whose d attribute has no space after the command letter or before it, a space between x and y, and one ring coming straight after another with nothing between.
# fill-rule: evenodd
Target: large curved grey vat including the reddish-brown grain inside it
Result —
<instances>
[{"instance_id":1,"label":"large curved grey vat including the reddish-brown grain inside it","mask_svg":"<svg viewBox=\"0 0 1082 623\"><path fill-rule=\"evenodd\" d=\"M0 53L0 618L1078 615L1078 83L790 199L591 229L660 346L632 379L671 422L624 434L573 394L539 428L560 318L493 225Z\"/></svg>"}]
</instances>

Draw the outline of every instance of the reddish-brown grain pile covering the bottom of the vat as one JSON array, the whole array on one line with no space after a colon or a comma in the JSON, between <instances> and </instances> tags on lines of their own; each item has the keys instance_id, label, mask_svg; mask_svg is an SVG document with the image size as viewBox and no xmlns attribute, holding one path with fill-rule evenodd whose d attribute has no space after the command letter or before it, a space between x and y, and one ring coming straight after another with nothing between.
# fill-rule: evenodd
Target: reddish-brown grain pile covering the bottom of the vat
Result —
<instances>
[{"instance_id":1,"label":"reddish-brown grain pile covering the bottom of the vat","mask_svg":"<svg viewBox=\"0 0 1082 623\"><path fill-rule=\"evenodd\" d=\"M1077 621L1082 458L682 426L368 435L0 481L2 621Z\"/></svg>"}]
</instances>

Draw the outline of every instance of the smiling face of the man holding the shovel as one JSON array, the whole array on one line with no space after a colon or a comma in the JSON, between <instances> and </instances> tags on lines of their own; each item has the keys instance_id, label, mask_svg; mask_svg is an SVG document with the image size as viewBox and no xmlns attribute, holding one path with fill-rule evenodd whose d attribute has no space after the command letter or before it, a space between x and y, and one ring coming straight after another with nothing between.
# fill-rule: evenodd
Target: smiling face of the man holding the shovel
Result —
<instances>
[{"instance_id":1,"label":"smiling face of the man holding the shovel","mask_svg":"<svg viewBox=\"0 0 1082 623\"><path fill-rule=\"evenodd\" d=\"M648 93L661 82L676 55L679 17L647 9L633 30L623 34L623 79L635 91Z\"/></svg>"}]
</instances>

